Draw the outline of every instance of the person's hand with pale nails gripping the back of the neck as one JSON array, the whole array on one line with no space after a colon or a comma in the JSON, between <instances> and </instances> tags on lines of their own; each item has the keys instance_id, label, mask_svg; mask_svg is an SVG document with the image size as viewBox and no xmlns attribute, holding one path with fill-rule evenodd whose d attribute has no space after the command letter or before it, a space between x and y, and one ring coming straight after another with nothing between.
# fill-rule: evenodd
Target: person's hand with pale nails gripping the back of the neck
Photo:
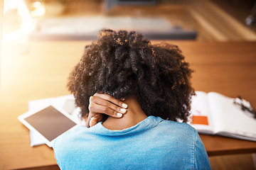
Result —
<instances>
[{"instance_id":1,"label":"person's hand with pale nails gripping the back of the neck","mask_svg":"<svg viewBox=\"0 0 256 170\"><path fill-rule=\"evenodd\" d=\"M85 126L92 127L102 121L103 114L114 118L122 118L127 112L127 104L107 94L94 94L90 96L89 115Z\"/></svg>"}]
</instances>

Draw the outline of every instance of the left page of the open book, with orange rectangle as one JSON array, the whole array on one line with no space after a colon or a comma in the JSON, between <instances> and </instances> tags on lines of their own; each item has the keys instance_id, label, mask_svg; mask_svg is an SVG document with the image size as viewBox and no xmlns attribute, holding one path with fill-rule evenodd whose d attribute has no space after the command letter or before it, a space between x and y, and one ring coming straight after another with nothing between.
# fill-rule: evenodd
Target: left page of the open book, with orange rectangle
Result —
<instances>
[{"instance_id":1,"label":"left page of the open book, with orange rectangle","mask_svg":"<svg viewBox=\"0 0 256 170\"><path fill-rule=\"evenodd\" d=\"M213 123L208 107L207 94L203 91L196 91L196 96L191 102L191 125L198 132L213 134Z\"/></svg>"}]
</instances>

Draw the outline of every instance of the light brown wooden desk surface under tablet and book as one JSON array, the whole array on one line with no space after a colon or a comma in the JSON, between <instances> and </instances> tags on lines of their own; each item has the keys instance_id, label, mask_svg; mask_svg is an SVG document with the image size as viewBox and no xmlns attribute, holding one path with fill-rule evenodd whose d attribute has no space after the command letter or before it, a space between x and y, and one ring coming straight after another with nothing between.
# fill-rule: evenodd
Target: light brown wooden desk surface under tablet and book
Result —
<instances>
[{"instance_id":1,"label":"light brown wooden desk surface under tablet and book","mask_svg":"<svg viewBox=\"0 0 256 170\"><path fill-rule=\"evenodd\" d=\"M31 42L4 45L0 91L0 169L55 165L53 149L30 147L18 115L28 101L68 94L70 69L89 42ZM256 106L256 42L174 42L195 70L196 90L241 95ZM28 51L27 51L28 50ZM256 142L201 135L210 156L256 152Z\"/></svg>"}]
</instances>

